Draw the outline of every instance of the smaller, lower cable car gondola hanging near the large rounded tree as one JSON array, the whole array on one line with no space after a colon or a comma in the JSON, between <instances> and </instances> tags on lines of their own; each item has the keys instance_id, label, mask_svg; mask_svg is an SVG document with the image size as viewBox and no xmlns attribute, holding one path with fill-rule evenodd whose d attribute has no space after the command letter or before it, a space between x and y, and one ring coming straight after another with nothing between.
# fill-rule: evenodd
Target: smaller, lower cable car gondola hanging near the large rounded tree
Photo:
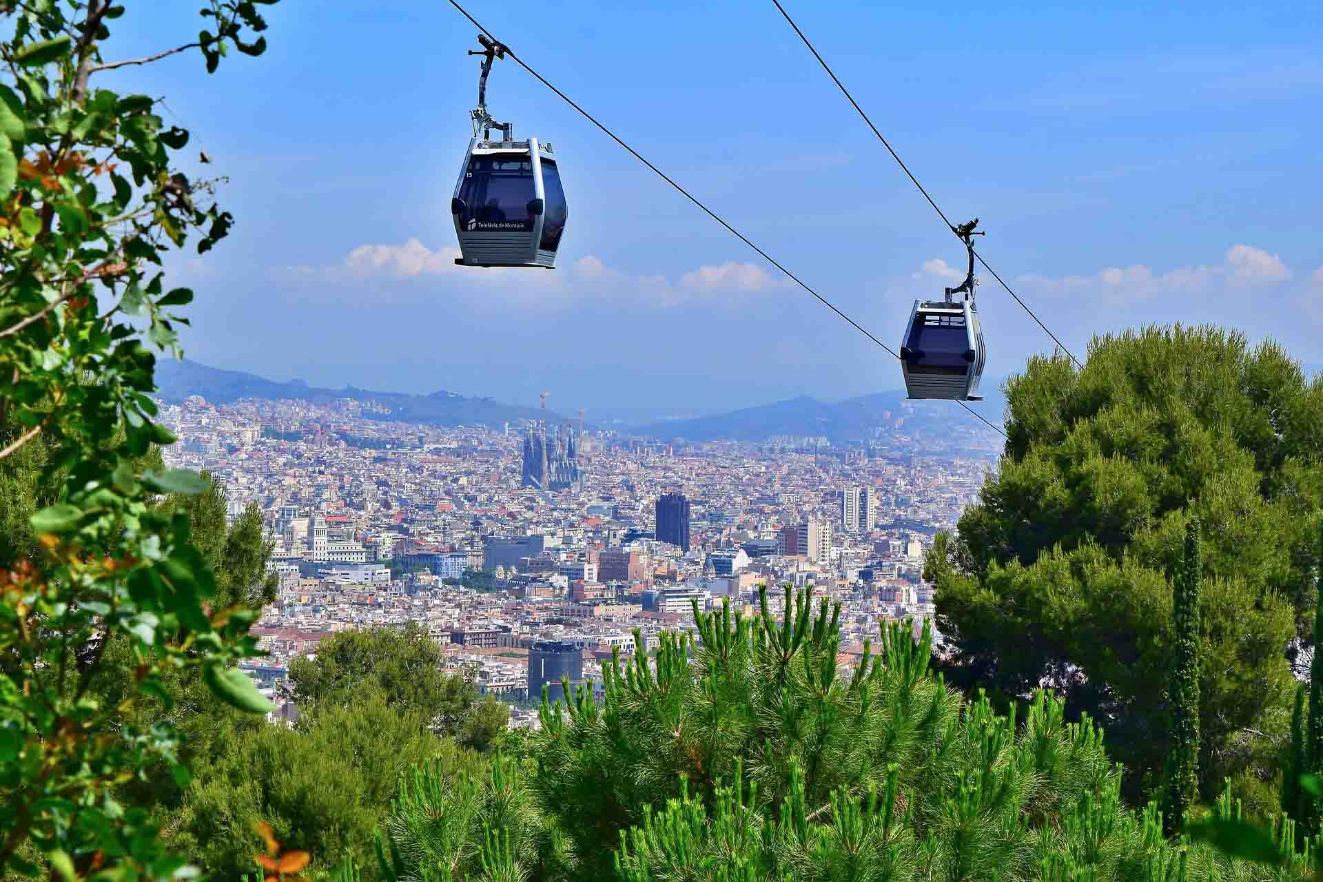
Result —
<instances>
[{"instance_id":1,"label":"smaller, lower cable car gondola hanging near the large rounded tree","mask_svg":"<svg viewBox=\"0 0 1323 882\"><path fill-rule=\"evenodd\" d=\"M964 242L970 270L964 282L946 288L945 300L914 301L905 340L901 344L901 373L909 398L949 398L954 401L982 401L979 378L987 353L983 348L983 328L974 301L974 237L979 220L951 227ZM951 295L960 294L959 301Z\"/></svg>"}]
</instances>

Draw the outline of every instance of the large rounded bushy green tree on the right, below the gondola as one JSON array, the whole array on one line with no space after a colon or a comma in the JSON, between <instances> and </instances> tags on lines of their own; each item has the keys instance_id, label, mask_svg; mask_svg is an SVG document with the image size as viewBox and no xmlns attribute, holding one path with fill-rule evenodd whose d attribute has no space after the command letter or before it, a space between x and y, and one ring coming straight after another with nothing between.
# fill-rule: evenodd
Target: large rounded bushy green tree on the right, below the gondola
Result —
<instances>
[{"instance_id":1,"label":"large rounded bushy green tree on the right, below the gondola","mask_svg":"<svg viewBox=\"0 0 1323 882\"><path fill-rule=\"evenodd\" d=\"M1084 369L1032 358L1007 383L1008 440L958 537L935 542L951 682L1023 701L1060 689L1156 785L1170 710L1171 588L1205 526L1200 768L1267 778L1308 643L1323 505L1323 381L1279 346L1215 328L1095 339Z\"/></svg>"}]
</instances>

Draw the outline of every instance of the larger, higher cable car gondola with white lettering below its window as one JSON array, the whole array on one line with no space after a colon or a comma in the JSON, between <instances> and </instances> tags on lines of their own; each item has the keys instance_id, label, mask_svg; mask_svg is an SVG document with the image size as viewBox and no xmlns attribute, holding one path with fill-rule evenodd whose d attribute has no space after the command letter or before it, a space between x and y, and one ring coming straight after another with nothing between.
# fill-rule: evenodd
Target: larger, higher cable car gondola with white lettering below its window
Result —
<instances>
[{"instance_id":1,"label":"larger, higher cable car gondola with white lettering below its window","mask_svg":"<svg viewBox=\"0 0 1323 882\"><path fill-rule=\"evenodd\" d=\"M470 115L474 136L459 169L450 212L455 218L462 266L556 268L556 250L569 214L560 168L550 143L515 140L513 123L487 112L487 74L505 46L479 34L483 52L478 108ZM492 140L492 131L500 139Z\"/></svg>"}]
</instances>

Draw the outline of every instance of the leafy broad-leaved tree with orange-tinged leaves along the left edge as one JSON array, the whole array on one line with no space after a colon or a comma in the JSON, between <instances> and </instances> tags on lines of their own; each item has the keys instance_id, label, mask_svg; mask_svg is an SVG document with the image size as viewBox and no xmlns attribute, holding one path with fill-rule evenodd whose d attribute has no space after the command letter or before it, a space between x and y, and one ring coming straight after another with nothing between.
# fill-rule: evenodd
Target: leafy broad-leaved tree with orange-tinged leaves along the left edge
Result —
<instances>
[{"instance_id":1,"label":"leafy broad-leaved tree with orange-tinged leaves along the left edge","mask_svg":"<svg viewBox=\"0 0 1323 882\"><path fill-rule=\"evenodd\" d=\"M263 52L253 3L202 7L206 29L153 58L196 49L212 71L232 48ZM163 255L191 241L206 253L232 217L213 182L179 171L188 132L164 126L157 99L102 87L105 71L152 61L103 56L124 12L0 4L0 461L17 465L0 476L0 871L34 873L37 858L66 881L94 854L111 878L183 874L116 791L161 763L188 775L177 730L135 717L168 701L168 677L197 670L225 701L269 706L230 666L254 653L251 612L206 610L216 579L188 518L155 505L204 483L143 468L173 442L144 342L177 354L193 296L165 287ZM120 664L107 651L120 641L131 689L106 703L91 684Z\"/></svg>"}]
</instances>

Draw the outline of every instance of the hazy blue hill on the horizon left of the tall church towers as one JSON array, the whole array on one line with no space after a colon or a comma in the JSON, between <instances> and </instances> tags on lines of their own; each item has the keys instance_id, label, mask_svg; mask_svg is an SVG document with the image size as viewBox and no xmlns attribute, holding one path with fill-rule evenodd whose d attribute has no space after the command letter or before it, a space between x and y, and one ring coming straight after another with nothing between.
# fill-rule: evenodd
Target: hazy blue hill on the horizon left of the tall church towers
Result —
<instances>
[{"instance_id":1,"label":"hazy blue hill on the horizon left of the tall church towers","mask_svg":"<svg viewBox=\"0 0 1323 882\"><path fill-rule=\"evenodd\" d=\"M171 403L179 403L189 395L201 395L213 405L229 405L241 398L296 399L314 403L327 403L343 398L376 402L390 409L389 414L366 414L380 419L430 423L437 426L471 426L483 423L500 426L520 419L541 419L552 423L570 424L570 421L552 411L536 407L504 405L491 398L466 398L451 391L434 391L427 395L413 395L397 391L370 391L356 386L344 389L320 389L302 380L277 382L242 370L222 370L209 368L196 361L176 361L161 358L156 362L157 397Z\"/></svg>"}]
</instances>

